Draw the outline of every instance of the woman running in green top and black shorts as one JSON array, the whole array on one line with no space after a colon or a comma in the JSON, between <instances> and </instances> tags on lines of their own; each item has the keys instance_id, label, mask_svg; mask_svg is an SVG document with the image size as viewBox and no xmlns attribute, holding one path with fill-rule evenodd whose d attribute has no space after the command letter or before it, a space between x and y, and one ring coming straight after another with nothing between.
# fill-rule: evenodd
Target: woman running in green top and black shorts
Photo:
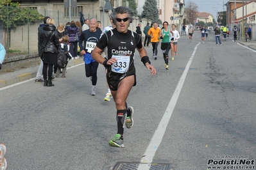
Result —
<instances>
[{"instance_id":1,"label":"woman running in green top and black shorts","mask_svg":"<svg viewBox=\"0 0 256 170\"><path fill-rule=\"evenodd\" d=\"M168 61L169 61L169 50L171 49L171 38L173 36L173 31L169 30L168 28L169 24L168 22L164 22L163 23L163 27L162 27L162 36L160 36L160 38L162 39L162 43L161 43L161 50L162 53L164 55L164 63L166 64L166 70L169 69L168 66Z\"/></svg>"}]
</instances>

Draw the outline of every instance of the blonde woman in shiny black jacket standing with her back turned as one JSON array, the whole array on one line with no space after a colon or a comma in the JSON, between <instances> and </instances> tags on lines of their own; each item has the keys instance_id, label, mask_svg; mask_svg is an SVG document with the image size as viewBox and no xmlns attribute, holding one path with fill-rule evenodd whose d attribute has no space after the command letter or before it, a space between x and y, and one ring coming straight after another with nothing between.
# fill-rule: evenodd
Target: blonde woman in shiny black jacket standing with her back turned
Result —
<instances>
[{"instance_id":1,"label":"blonde woman in shiny black jacket standing with her back turned","mask_svg":"<svg viewBox=\"0 0 256 170\"><path fill-rule=\"evenodd\" d=\"M44 62L44 86L54 86L51 80L53 75L53 65L56 65L57 63L59 44L59 38L58 33L56 31L54 19L49 18L46 20L46 24L44 25L40 33L40 43L42 44L42 46L40 47L40 51L43 51L42 61Z\"/></svg>"}]
</instances>

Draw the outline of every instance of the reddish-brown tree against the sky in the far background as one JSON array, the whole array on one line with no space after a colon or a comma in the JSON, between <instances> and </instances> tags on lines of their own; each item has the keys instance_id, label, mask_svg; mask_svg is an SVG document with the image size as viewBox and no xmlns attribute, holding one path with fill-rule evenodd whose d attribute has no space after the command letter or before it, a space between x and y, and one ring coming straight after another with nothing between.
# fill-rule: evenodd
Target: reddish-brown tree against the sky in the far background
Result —
<instances>
[{"instance_id":1,"label":"reddish-brown tree against the sky in the far background","mask_svg":"<svg viewBox=\"0 0 256 170\"><path fill-rule=\"evenodd\" d=\"M198 13L198 5L192 1L187 2L185 8L185 14L187 16L187 23L194 23Z\"/></svg>"}]
</instances>

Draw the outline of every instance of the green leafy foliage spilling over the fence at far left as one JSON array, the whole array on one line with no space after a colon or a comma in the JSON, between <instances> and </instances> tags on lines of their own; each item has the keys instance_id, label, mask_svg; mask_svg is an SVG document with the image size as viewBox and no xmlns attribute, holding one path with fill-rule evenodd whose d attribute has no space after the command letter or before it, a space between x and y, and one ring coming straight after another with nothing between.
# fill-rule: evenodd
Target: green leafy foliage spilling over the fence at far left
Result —
<instances>
[{"instance_id":1,"label":"green leafy foliage spilling over the fence at far left","mask_svg":"<svg viewBox=\"0 0 256 170\"><path fill-rule=\"evenodd\" d=\"M4 38L3 45L6 47L8 42L8 32L17 26L22 26L37 20L42 20L44 16L37 10L30 8L19 8L19 3L13 3L12 0L0 1L0 20L3 22ZM7 43L8 45L8 43Z\"/></svg>"}]
</instances>

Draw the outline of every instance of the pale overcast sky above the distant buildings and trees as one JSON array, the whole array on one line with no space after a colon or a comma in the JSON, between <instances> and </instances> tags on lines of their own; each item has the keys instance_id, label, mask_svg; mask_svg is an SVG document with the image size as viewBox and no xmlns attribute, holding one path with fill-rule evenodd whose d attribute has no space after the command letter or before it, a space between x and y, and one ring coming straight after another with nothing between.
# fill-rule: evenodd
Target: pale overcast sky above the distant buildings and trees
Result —
<instances>
[{"instance_id":1,"label":"pale overcast sky above the distant buildings and trees","mask_svg":"<svg viewBox=\"0 0 256 170\"><path fill-rule=\"evenodd\" d=\"M160 0L163 1L163 0ZM167 1L174 1L174 0L167 0ZM189 1L192 1L198 5L199 12L209 12L211 13L214 18L216 19L217 11L222 12L223 10L223 0L185 0L185 4ZM224 0L224 4L228 0ZM138 11L139 14L142 12L142 6L144 4L144 0L139 0L138 4ZM186 5L185 5L186 6ZM226 10L226 7L225 7Z\"/></svg>"}]
</instances>

